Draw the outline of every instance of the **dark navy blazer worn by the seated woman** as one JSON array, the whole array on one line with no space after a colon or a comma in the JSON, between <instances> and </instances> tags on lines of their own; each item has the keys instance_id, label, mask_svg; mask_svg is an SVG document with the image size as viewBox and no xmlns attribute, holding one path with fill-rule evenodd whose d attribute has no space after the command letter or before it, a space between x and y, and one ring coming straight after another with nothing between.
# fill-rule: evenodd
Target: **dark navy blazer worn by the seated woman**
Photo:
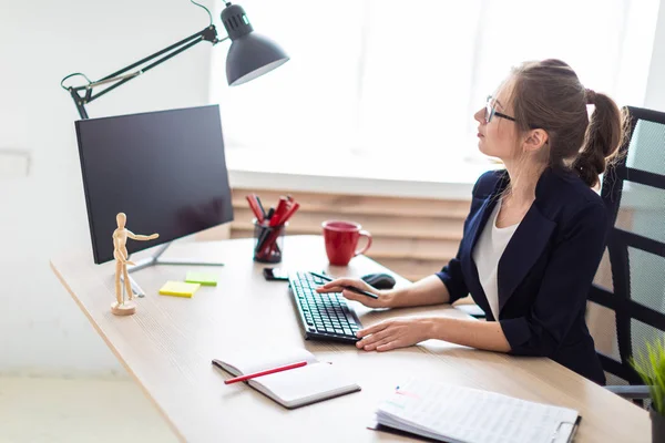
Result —
<instances>
[{"instance_id":1,"label":"dark navy blazer worn by the seated woman","mask_svg":"<svg viewBox=\"0 0 665 443\"><path fill-rule=\"evenodd\" d=\"M504 169L478 179L458 255L437 272L450 292L450 302L471 293L488 321L497 319L472 251L509 182ZM610 228L601 197L580 177L563 169L545 169L533 205L499 260L498 320L510 353L549 357L605 383L584 313Z\"/></svg>"}]
</instances>

